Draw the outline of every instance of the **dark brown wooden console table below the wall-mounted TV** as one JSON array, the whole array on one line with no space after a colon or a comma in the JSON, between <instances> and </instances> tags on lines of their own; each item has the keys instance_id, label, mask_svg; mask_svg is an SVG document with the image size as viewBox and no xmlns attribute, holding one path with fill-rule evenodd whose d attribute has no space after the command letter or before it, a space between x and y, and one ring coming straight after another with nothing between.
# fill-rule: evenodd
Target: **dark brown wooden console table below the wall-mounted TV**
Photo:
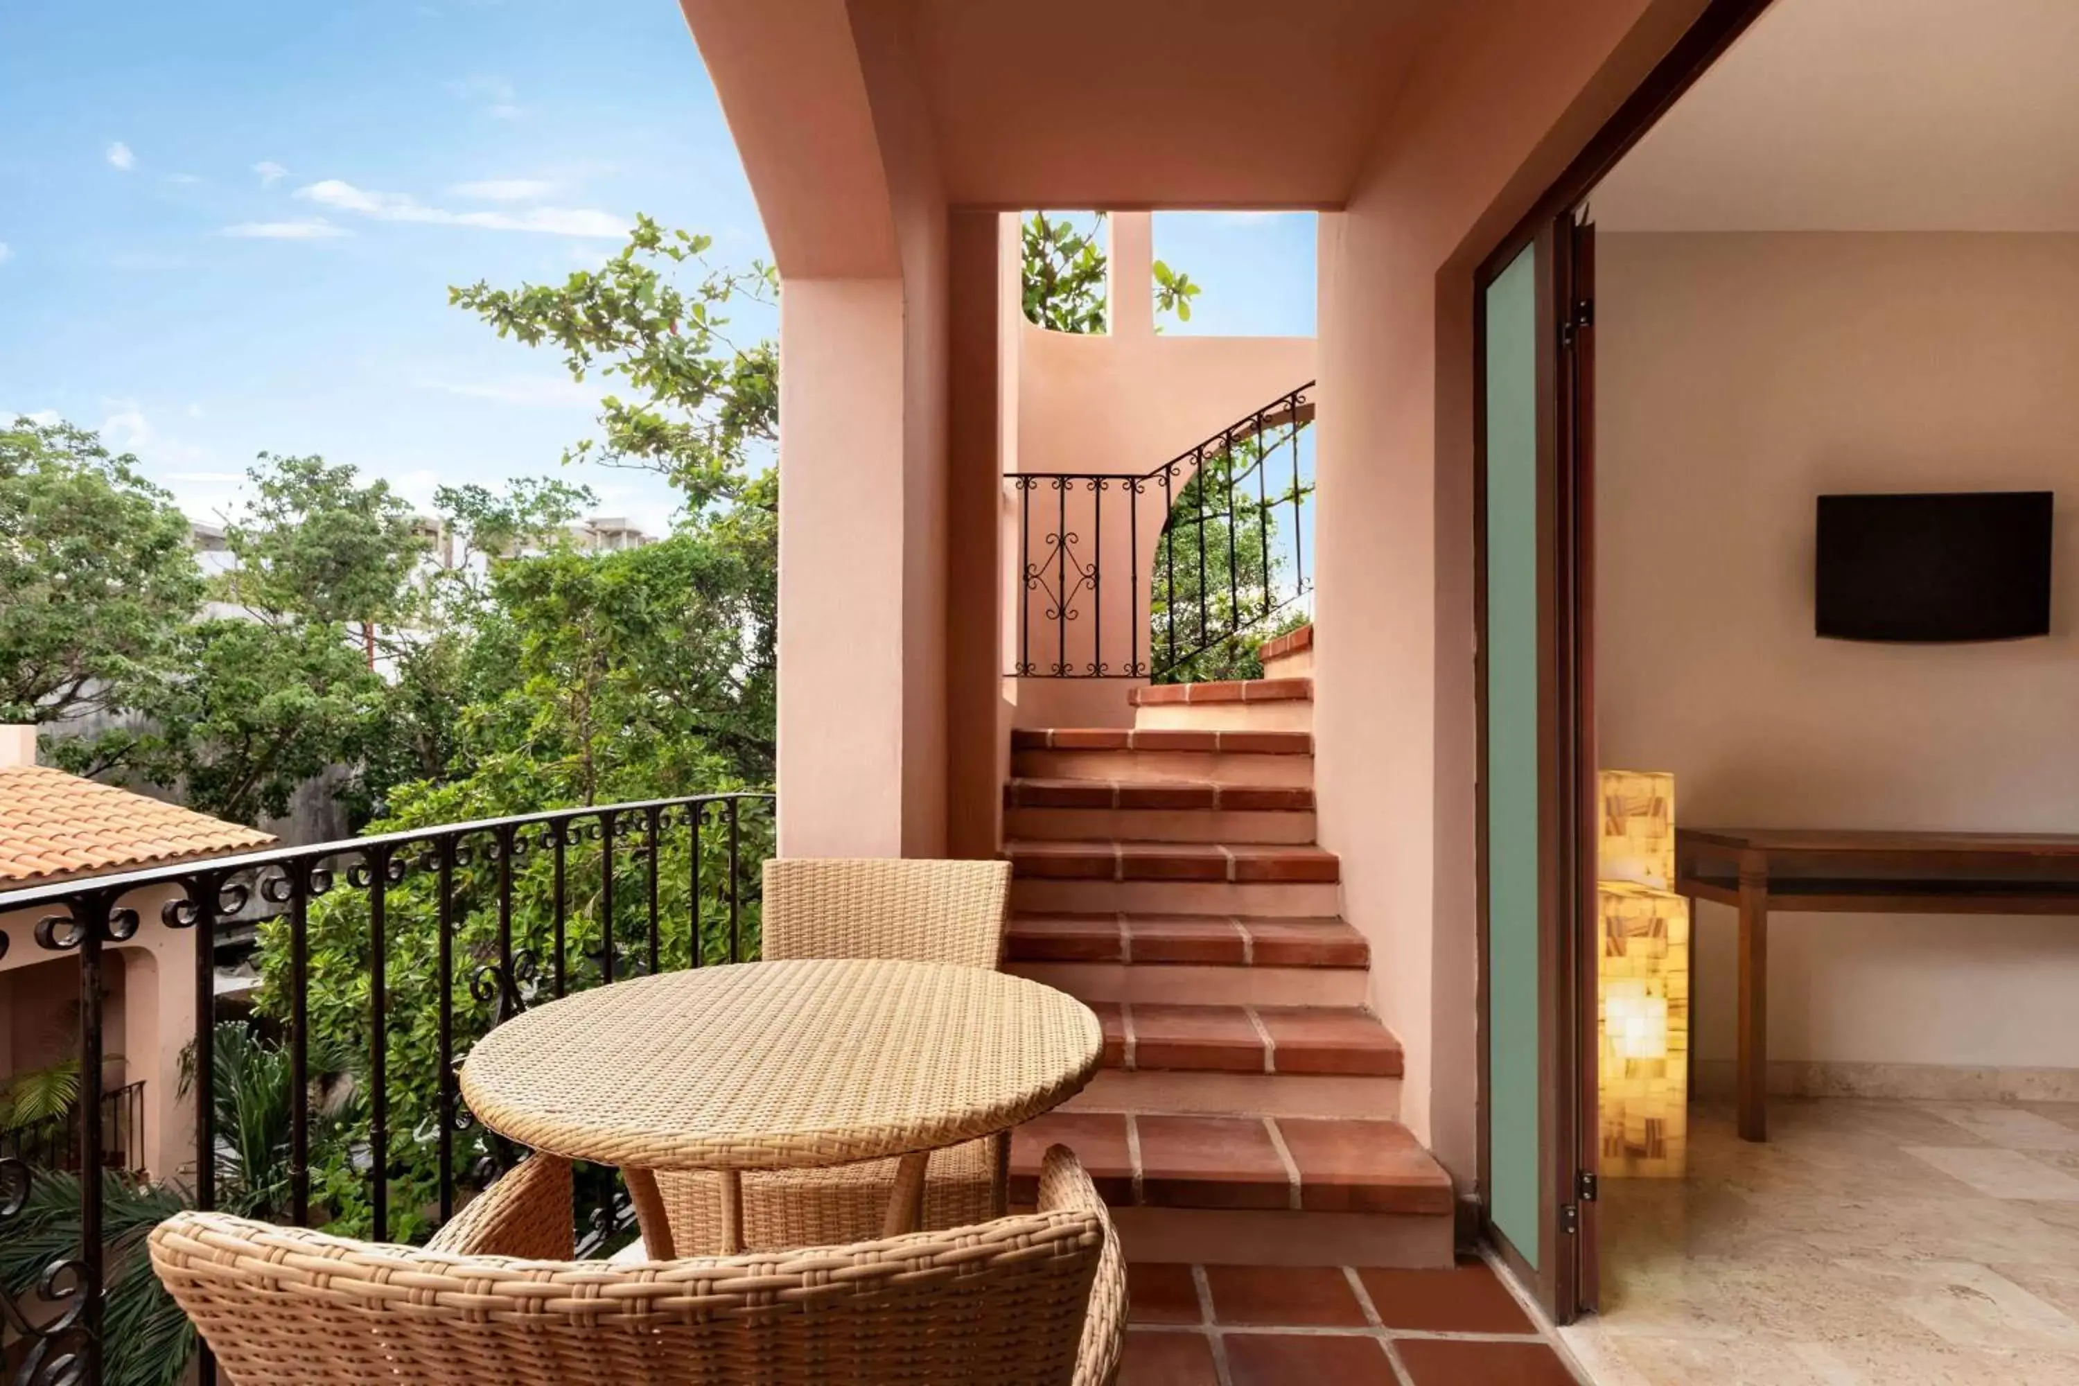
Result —
<instances>
[{"instance_id":1,"label":"dark brown wooden console table below the wall-mounted TV","mask_svg":"<svg viewBox=\"0 0 2079 1386\"><path fill-rule=\"evenodd\" d=\"M1678 827L1676 891L1692 929L1699 900L1740 912L1740 1137L1767 1141L1769 910L2079 914L2079 833Z\"/></svg>"}]
</instances>

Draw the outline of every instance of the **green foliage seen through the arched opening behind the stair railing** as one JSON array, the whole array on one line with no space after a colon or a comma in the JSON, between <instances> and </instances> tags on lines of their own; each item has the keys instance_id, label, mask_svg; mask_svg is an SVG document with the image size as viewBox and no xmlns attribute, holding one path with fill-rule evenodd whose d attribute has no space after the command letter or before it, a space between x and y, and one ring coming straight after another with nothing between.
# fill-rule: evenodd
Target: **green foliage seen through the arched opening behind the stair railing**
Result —
<instances>
[{"instance_id":1,"label":"green foliage seen through the arched opening behind the stair railing","mask_svg":"<svg viewBox=\"0 0 2079 1386\"><path fill-rule=\"evenodd\" d=\"M1258 497L1262 457L1260 436L1237 438L1229 453L1208 457L1170 505L1150 586L1150 652L1156 667L1170 650L1177 663L1156 675L1158 684L1260 679L1256 646L1308 621L1304 611L1285 607L1293 592L1281 584L1279 522L1312 486Z\"/></svg>"}]
</instances>

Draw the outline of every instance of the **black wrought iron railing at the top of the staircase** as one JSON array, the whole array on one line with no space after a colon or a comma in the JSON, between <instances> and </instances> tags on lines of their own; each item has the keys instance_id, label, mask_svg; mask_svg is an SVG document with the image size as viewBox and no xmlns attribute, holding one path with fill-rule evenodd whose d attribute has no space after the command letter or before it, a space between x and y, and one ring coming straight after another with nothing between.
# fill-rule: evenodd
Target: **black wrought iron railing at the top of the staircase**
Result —
<instances>
[{"instance_id":1,"label":"black wrought iron railing at the top of the staircase","mask_svg":"<svg viewBox=\"0 0 2079 1386\"><path fill-rule=\"evenodd\" d=\"M1012 677L1225 677L1314 584L1314 382L1152 472L1012 472Z\"/></svg>"}]
</instances>

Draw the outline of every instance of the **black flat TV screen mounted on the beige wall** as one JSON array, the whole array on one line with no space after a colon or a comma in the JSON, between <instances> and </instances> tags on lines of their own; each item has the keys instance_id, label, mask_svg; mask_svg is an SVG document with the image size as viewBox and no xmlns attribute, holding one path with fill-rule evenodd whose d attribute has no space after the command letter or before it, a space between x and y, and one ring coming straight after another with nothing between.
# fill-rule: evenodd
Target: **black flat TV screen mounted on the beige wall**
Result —
<instances>
[{"instance_id":1,"label":"black flat TV screen mounted on the beige wall","mask_svg":"<svg viewBox=\"0 0 2079 1386\"><path fill-rule=\"evenodd\" d=\"M2050 634L2050 492L1819 497L1817 628L1836 640Z\"/></svg>"}]
</instances>

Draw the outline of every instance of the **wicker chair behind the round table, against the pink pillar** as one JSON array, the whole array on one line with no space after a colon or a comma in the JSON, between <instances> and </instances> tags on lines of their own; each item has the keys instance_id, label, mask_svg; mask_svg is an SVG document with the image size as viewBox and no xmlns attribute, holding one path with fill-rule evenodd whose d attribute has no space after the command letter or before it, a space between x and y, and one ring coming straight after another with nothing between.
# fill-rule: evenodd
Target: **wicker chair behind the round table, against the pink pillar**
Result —
<instances>
[{"instance_id":1,"label":"wicker chair behind the round table, against the pink pillar","mask_svg":"<svg viewBox=\"0 0 2079 1386\"><path fill-rule=\"evenodd\" d=\"M894 958L994 968L1004 952L1008 862L773 858L765 862L767 958ZM923 1228L1002 1216L1010 1137L933 1151ZM746 1247L821 1247L881 1232L896 1162L744 1174ZM721 1180L657 1172L680 1255L721 1251Z\"/></svg>"}]
</instances>

